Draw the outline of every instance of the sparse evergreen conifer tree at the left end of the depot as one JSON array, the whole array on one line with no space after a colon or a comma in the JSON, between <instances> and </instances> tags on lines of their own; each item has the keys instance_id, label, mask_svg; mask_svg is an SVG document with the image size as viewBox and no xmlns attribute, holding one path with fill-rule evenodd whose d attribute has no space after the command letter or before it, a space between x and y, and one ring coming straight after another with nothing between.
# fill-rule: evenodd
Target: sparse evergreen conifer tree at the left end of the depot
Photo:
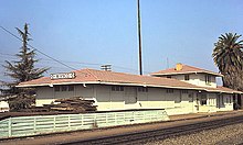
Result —
<instances>
[{"instance_id":1,"label":"sparse evergreen conifer tree at the left end of the depot","mask_svg":"<svg viewBox=\"0 0 243 145\"><path fill-rule=\"evenodd\" d=\"M21 109L21 108L28 108L29 104L32 101L21 101L24 98L24 96L30 96L33 92L33 89L19 89L15 88L15 86L23 81L29 81L32 79L36 79L42 77L43 72L45 72L49 68L35 68L34 64L38 63L38 59L34 59L35 52L34 49L30 49L28 47L29 41L31 41L30 33L29 33L29 25L24 24L24 30L21 31L17 27L18 33L21 36L22 40L22 46L20 48L20 52L15 55L19 60L15 60L13 63L10 63L9 60L6 60L6 65L3 67L6 68L7 72L6 75L11 77L13 79L13 82L8 82L6 86L9 87L9 89L4 90L3 92L6 94L18 94L19 98L11 100L13 104L10 104L10 107L14 107L14 100L18 100L18 107L14 109ZM27 99L27 98L24 98Z\"/></svg>"}]
</instances>

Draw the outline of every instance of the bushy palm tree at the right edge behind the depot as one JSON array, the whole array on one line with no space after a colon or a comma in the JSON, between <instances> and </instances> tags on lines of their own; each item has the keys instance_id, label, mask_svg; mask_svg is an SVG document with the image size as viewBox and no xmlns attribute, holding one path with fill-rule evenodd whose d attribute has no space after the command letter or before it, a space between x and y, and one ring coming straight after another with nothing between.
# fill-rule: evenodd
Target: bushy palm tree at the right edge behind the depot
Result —
<instances>
[{"instance_id":1,"label":"bushy palm tree at the right edge behind the depot","mask_svg":"<svg viewBox=\"0 0 243 145\"><path fill-rule=\"evenodd\" d=\"M243 41L241 35L225 33L214 44L213 60L223 77L223 86L242 90L243 77Z\"/></svg>"}]
</instances>

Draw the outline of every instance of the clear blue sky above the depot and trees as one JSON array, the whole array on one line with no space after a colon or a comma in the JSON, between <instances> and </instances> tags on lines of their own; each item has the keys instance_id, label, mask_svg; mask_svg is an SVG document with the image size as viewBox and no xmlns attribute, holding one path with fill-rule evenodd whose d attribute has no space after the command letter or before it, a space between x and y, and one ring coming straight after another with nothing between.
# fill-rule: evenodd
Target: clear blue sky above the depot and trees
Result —
<instances>
[{"instance_id":1,"label":"clear blue sky above the depot and trees","mask_svg":"<svg viewBox=\"0 0 243 145\"><path fill-rule=\"evenodd\" d=\"M221 34L243 34L242 0L140 0L144 74L182 63L218 71ZM72 68L110 64L138 74L137 0L1 0L0 26L19 35L29 24L32 46ZM243 40L243 38L241 38ZM0 65L15 60L21 42L0 29ZM70 68L36 53L45 74ZM7 80L0 66L0 80Z\"/></svg>"}]
</instances>

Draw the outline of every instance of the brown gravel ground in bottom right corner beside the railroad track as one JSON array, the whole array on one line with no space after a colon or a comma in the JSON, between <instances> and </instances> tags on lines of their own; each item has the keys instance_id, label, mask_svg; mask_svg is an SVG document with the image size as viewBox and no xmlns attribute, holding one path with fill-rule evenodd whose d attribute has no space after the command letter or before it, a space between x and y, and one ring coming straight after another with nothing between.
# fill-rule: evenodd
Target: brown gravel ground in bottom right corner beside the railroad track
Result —
<instances>
[{"instance_id":1,"label":"brown gravel ground in bottom right corner beside the railroad track","mask_svg":"<svg viewBox=\"0 0 243 145\"><path fill-rule=\"evenodd\" d=\"M146 145L234 145L243 143L243 123L201 131L190 135L154 140Z\"/></svg>"}]
</instances>

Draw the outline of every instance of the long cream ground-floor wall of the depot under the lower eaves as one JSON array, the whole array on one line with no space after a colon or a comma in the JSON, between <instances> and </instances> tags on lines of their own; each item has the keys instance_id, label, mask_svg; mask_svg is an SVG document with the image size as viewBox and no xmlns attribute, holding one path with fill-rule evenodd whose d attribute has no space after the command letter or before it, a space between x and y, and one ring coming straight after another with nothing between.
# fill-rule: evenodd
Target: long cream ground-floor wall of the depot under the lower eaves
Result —
<instances>
[{"instance_id":1,"label":"long cream ground-floor wall of the depot under the lower eaves","mask_svg":"<svg viewBox=\"0 0 243 145\"><path fill-rule=\"evenodd\" d=\"M141 92L137 87L124 87L124 91L112 91L112 86L105 85L80 85L74 87L74 91L55 92L51 87L39 87L36 90L36 105L51 103L60 98L83 97L95 99L95 105L99 111L166 109L168 114L186 114L233 110L233 101L231 103L226 101L229 94L223 94L223 104L218 109L216 93L207 93L207 104L200 105L197 102L198 91L196 90L182 93L181 90L173 89L173 93L168 93L167 89L148 88L148 92Z\"/></svg>"}]
</instances>

